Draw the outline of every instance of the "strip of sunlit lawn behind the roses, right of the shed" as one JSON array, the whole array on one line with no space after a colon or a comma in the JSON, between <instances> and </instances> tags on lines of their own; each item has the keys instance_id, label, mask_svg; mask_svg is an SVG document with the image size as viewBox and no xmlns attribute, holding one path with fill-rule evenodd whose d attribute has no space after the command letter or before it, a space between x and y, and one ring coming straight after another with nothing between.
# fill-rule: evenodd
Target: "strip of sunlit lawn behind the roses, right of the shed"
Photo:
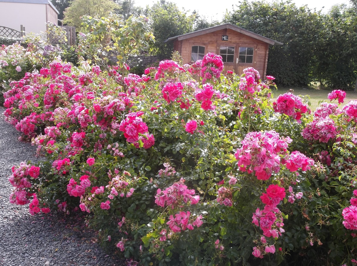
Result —
<instances>
[{"instance_id":1,"label":"strip of sunlit lawn behind the roses, right of the shed","mask_svg":"<svg viewBox=\"0 0 357 266\"><path fill-rule=\"evenodd\" d=\"M278 88L277 91L273 90L274 93L274 99L276 99L280 94L284 94L286 92L289 92L291 88ZM327 94L329 94L332 90L321 90L321 89L303 89L303 88L294 88L294 94L295 95L308 95L310 97L310 109L311 111L315 111L318 106L319 101L327 101L330 102L330 100L327 99ZM357 100L357 93L354 92L346 92L346 98L345 101L341 104L340 108L348 104L349 101L351 100ZM338 102L333 101L333 103L338 104Z\"/></svg>"}]
</instances>

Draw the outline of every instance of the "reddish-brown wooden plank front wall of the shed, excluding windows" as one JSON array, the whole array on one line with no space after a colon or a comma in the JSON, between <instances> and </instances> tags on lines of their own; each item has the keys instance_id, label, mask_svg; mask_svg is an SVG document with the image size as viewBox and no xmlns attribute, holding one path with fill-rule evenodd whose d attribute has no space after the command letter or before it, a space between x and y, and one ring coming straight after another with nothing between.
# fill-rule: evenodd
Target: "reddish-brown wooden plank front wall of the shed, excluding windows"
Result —
<instances>
[{"instance_id":1,"label":"reddish-brown wooden plank front wall of the shed, excluding windows","mask_svg":"<svg viewBox=\"0 0 357 266\"><path fill-rule=\"evenodd\" d=\"M222 35L228 35L228 41L222 41ZM266 42L257 40L240 32L236 32L231 29L218 30L215 32L203 34L196 37L191 37L181 41L175 41L174 49L175 51L180 52L183 63L189 63L191 61L191 46L193 45L201 45L206 46L205 53L215 53L219 54L220 45L230 46L231 44L239 44L242 47L252 47L252 45L256 45L256 51L254 51L253 57L253 66L257 71L259 71L261 78L265 78L266 75L266 66L268 61L268 49L269 45ZM237 48L238 49L238 48ZM236 60L236 57L235 57ZM225 67L225 71L230 70L231 66ZM248 67L248 66L247 66ZM228 69L229 68L229 69ZM243 69L243 68L242 68ZM242 69L239 69L241 72ZM238 71L236 70L237 74Z\"/></svg>"}]
</instances>

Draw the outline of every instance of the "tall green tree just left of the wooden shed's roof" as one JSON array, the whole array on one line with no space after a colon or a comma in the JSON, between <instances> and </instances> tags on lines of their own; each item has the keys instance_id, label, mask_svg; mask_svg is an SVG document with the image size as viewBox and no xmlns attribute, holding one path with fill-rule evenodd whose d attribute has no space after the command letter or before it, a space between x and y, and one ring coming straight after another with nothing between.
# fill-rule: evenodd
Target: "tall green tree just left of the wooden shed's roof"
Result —
<instances>
[{"instance_id":1,"label":"tall green tree just left of the wooden shed's roof","mask_svg":"<svg viewBox=\"0 0 357 266\"><path fill-rule=\"evenodd\" d=\"M153 20L152 31L155 43L150 44L150 53L160 58L170 58L173 43L165 43L168 38L192 31L195 15L188 15L180 11L173 2L161 0L150 9L146 9L147 16Z\"/></svg>"}]
</instances>

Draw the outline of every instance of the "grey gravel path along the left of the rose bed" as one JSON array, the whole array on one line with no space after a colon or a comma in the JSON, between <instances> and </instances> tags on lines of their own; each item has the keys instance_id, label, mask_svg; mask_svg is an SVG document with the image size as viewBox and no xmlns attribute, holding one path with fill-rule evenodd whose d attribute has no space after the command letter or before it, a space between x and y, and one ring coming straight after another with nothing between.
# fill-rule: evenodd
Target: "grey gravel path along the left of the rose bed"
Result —
<instances>
[{"instance_id":1,"label":"grey gravel path along the left of the rose bed","mask_svg":"<svg viewBox=\"0 0 357 266\"><path fill-rule=\"evenodd\" d=\"M35 147L18 141L20 134L4 121L4 110L0 108L0 265L124 265L101 249L82 219L56 213L31 216L28 204L10 204L11 167L36 157Z\"/></svg>"}]
</instances>

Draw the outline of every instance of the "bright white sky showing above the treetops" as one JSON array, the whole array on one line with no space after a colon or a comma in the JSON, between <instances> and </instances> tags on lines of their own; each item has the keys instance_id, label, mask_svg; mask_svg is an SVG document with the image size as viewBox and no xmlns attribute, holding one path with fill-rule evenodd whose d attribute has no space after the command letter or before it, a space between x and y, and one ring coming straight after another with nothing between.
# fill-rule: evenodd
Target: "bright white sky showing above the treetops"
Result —
<instances>
[{"instance_id":1,"label":"bright white sky showing above the treetops","mask_svg":"<svg viewBox=\"0 0 357 266\"><path fill-rule=\"evenodd\" d=\"M156 3L157 0L134 0L135 6L145 7L146 5L152 6L152 4ZM166 0L167 2L174 2L179 8L184 8L186 11L196 10L199 15L205 16L208 21L210 20L222 20L223 16L226 13L226 9L232 11L236 9L236 4L232 3L236 2L239 4L239 0L237 1L229 1L229 0ZM265 0L265 2L272 3L276 0ZM278 1L280 2L280 1ZM297 7L307 5L308 8L316 10L321 10L323 13L327 13L330 10L331 6L336 4L350 4L348 0L292 0ZM212 4L209 4L212 3Z\"/></svg>"}]
</instances>

